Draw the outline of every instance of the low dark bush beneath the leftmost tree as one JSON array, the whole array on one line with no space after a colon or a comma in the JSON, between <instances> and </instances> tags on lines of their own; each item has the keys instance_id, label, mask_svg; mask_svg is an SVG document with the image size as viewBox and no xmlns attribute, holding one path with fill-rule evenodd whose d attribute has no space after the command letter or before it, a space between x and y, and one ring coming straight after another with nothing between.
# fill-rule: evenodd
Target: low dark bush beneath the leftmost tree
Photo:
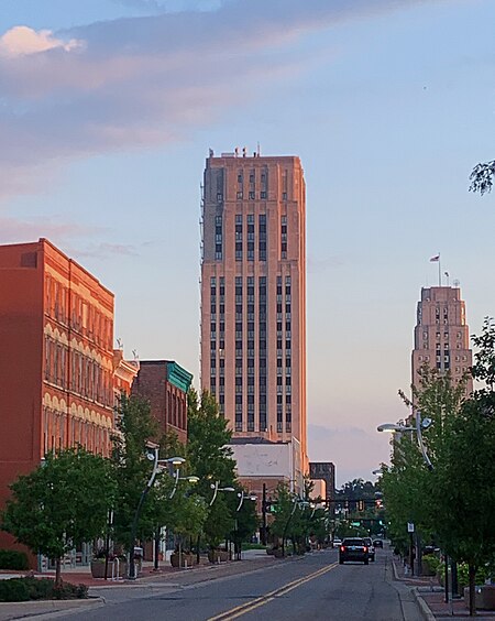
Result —
<instances>
[{"instance_id":1,"label":"low dark bush beneath the leftmost tree","mask_svg":"<svg viewBox=\"0 0 495 621\"><path fill-rule=\"evenodd\" d=\"M0 601L31 601L41 599L86 599L88 587L62 582L55 586L50 578L10 578L0 581Z\"/></svg>"}]
</instances>

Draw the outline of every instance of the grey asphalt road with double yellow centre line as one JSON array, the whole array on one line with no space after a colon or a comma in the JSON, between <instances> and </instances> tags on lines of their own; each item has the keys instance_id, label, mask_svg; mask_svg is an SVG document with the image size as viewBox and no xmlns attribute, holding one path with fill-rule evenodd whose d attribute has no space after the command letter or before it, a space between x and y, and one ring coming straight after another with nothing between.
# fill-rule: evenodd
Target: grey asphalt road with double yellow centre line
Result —
<instances>
[{"instance_id":1,"label":"grey asphalt road with double yellow centre line","mask_svg":"<svg viewBox=\"0 0 495 621\"><path fill-rule=\"evenodd\" d=\"M381 553L381 554L380 554ZM339 565L337 551L280 560L249 574L188 585L101 590L106 604L58 619L85 621L419 621L413 596L393 581L389 553L377 551L365 566Z\"/></svg>"}]
</instances>

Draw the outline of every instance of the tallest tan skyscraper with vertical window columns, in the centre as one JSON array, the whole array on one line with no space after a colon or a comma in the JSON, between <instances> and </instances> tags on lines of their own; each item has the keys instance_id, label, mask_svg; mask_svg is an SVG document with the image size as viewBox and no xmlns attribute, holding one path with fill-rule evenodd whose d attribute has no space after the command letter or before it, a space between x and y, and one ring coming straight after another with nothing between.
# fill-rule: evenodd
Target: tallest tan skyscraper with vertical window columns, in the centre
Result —
<instances>
[{"instance_id":1,"label":"tallest tan skyscraper with vertical window columns, in the centre","mask_svg":"<svg viewBox=\"0 0 495 621\"><path fill-rule=\"evenodd\" d=\"M212 152L202 193L201 383L237 438L306 444L306 186L296 156Z\"/></svg>"}]
</instances>

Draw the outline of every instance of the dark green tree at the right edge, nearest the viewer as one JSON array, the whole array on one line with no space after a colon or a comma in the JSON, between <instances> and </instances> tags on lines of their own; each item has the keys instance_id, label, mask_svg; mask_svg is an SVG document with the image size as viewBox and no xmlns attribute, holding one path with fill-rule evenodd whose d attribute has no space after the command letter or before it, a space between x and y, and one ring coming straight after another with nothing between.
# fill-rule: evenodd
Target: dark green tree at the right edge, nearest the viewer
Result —
<instances>
[{"instance_id":1,"label":"dark green tree at the right edge, nearest the viewer","mask_svg":"<svg viewBox=\"0 0 495 621\"><path fill-rule=\"evenodd\" d=\"M470 615L475 614L475 574L495 556L495 325L486 318L471 372L484 385L447 421L431 480L432 516L448 552L468 563Z\"/></svg>"}]
</instances>

